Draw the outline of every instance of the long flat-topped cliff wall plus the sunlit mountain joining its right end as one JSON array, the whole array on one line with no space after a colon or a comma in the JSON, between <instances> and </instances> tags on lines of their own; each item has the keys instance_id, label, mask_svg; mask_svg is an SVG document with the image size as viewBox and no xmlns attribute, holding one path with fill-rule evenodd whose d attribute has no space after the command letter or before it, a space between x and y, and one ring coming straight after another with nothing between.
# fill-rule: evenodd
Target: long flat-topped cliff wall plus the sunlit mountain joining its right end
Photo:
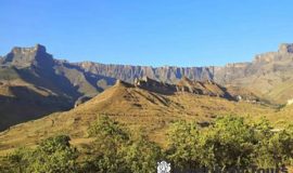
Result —
<instances>
[{"instance_id":1,"label":"long flat-topped cliff wall plus the sunlit mountain joining its right end","mask_svg":"<svg viewBox=\"0 0 293 173\"><path fill-rule=\"evenodd\" d=\"M136 78L177 83L182 77L191 80L212 80L222 85L240 86L266 99L284 104L293 98L293 44L281 44L278 52L256 55L251 63L227 64L222 67L151 67L129 65L104 65L99 63L76 63L85 71L133 82Z\"/></svg>"}]
</instances>

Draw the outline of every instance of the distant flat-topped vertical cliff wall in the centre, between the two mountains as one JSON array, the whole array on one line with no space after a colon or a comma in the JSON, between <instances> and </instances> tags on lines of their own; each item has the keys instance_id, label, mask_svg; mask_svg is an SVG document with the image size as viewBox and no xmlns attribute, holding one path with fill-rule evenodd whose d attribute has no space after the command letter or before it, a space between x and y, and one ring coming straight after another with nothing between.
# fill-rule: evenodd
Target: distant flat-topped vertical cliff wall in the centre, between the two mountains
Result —
<instances>
[{"instance_id":1,"label":"distant flat-topped vertical cliff wall in the centre, between the two mountains","mask_svg":"<svg viewBox=\"0 0 293 173\"><path fill-rule=\"evenodd\" d=\"M151 67L129 65L105 65L92 62L75 64L85 71L120 79L132 83L135 78L148 76L151 79L175 83L183 76L192 80L213 79L215 67Z\"/></svg>"}]
</instances>

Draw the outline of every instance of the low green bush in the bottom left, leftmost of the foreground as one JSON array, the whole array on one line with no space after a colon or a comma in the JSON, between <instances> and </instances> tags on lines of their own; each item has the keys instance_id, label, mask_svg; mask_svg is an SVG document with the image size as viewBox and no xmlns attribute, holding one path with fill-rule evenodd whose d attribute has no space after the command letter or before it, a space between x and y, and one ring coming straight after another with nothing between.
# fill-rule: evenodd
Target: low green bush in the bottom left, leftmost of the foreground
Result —
<instances>
[{"instance_id":1,"label":"low green bush in the bottom left, leftmost of the foreground","mask_svg":"<svg viewBox=\"0 0 293 173\"><path fill-rule=\"evenodd\" d=\"M44 139L36 149L21 148L8 157L13 172L71 173L77 171L78 152L71 147L69 137L59 135Z\"/></svg>"}]
</instances>

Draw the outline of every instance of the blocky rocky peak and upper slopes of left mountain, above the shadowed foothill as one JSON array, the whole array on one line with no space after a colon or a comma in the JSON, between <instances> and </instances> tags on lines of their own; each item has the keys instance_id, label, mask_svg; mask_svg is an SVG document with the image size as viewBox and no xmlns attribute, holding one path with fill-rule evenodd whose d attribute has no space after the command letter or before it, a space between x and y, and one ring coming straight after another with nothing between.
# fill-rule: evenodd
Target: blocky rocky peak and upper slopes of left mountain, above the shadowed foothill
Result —
<instances>
[{"instance_id":1,"label":"blocky rocky peak and upper slopes of left mountain, above the shadowed foothill","mask_svg":"<svg viewBox=\"0 0 293 173\"><path fill-rule=\"evenodd\" d=\"M0 63L2 67L16 68L22 80L72 101L94 96L115 82L113 78L89 74L66 61L54 59L40 44L13 48Z\"/></svg>"}]
</instances>

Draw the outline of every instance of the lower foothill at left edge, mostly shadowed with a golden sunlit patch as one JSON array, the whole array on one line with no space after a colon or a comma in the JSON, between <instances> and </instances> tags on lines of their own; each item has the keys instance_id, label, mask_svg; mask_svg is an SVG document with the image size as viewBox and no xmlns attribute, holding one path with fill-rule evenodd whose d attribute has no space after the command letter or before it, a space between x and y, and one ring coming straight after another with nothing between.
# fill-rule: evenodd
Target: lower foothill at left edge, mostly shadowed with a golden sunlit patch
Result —
<instances>
[{"instance_id":1,"label":"lower foothill at left edge, mostly shadowed with a golden sunlit patch","mask_svg":"<svg viewBox=\"0 0 293 173\"><path fill-rule=\"evenodd\" d=\"M23 80L13 67L0 67L0 131L69 107L56 93Z\"/></svg>"}]
</instances>

